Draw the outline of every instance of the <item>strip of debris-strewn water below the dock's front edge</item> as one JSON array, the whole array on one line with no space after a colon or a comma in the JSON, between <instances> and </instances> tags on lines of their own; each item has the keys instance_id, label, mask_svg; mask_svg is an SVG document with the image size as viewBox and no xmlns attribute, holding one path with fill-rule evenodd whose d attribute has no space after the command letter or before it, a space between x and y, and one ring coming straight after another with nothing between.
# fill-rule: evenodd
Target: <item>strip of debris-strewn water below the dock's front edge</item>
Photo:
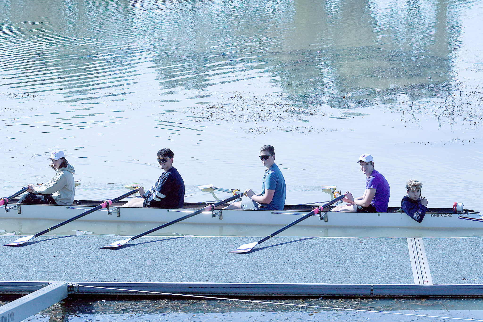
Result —
<instances>
[{"instance_id":1,"label":"strip of debris-strewn water below the dock's front edge","mask_svg":"<svg viewBox=\"0 0 483 322\"><path fill-rule=\"evenodd\" d=\"M25 320L47 321L462 321L483 318L480 300L337 299L271 300L291 304L352 308L372 312L300 308L236 301L93 300L66 301ZM431 315L428 318L394 313ZM467 321L468 321L467 320ZM464 320L463 320L464 321Z\"/></svg>"}]
</instances>

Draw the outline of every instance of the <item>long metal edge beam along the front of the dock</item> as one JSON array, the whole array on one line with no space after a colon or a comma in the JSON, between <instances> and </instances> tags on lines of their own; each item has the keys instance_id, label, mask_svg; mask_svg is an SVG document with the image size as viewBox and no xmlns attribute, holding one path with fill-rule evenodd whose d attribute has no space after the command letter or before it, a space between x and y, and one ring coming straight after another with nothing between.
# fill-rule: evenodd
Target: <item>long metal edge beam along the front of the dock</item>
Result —
<instances>
[{"instance_id":1,"label":"long metal edge beam along the front of the dock","mask_svg":"<svg viewBox=\"0 0 483 322\"><path fill-rule=\"evenodd\" d=\"M0 294L25 294L40 289L46 281L2 281ZM170 282L66 282L73 284L70 294L79 295L162 295L213 296L483 296L483 284L315 284L315 283L170 283ZM93 286L93 287L87 287ZM94 288L102 287L102 288ZM113 288L113 289L106 289ZM122 290L119 290L122 289Z\"/></svg>"}]
</instances>

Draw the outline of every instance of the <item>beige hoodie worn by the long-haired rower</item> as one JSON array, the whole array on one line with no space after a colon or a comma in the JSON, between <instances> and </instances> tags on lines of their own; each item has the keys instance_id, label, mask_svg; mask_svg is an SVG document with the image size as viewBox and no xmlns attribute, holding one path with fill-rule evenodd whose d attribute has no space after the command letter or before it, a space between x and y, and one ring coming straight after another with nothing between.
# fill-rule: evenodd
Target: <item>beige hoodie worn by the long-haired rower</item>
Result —
<instances>
[{"instance_id":1,"label":"beige hoodie worn by the long-haired rower","mask_svg":"<svg viewBox=\"0 0 483 322\"><path fill-rule=\"evenodd\" d=\"M34 192L52 195L57 205L71 205L74 202L74 167L57 169L57 173L49 182L33 187Z\"/></svg>"}]
</instances>

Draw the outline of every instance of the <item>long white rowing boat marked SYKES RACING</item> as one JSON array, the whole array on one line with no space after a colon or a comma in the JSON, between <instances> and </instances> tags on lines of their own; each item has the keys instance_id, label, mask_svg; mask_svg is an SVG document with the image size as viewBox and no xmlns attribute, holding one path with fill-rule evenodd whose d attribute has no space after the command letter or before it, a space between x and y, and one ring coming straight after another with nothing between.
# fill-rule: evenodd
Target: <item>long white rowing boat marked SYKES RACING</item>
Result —
<instances>
[{"instance_id":1,"label":"long white rowing boat marked SYKES RACING","mask_svg":"<svg viewBox=\"0 0 483 322\"><path fill-rule=\"evenodd\" d=\"M12 200L6 210L0 210L1 219L46 219L63 221L98 206L99 200L76 200L71 206L14 204ZM166 223L186 213L203 208L204 203L185 203L183 209L129 208L121 207L125 201L113 203L109 209L95 211L78 219L99 222ZM222 205L213 211L205 211L185 220L187 224L220 225L284 225L310 212L314 206L285 205L282 211L271 210L222 210ZM389 207L387 212L332 212L323 211L305 220L299 226L327 227L417 227L417 228L483 228L480 211L452 208L428 208L422 223L417 223L398 208Z\"/></svg>"}]
</instances>

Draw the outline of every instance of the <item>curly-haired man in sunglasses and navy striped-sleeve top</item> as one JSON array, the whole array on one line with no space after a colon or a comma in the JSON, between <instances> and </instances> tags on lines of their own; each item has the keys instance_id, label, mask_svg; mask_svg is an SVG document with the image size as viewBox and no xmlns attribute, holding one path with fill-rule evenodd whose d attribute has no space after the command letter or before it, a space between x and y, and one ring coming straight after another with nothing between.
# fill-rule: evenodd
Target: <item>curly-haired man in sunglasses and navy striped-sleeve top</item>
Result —
<instances>
[{"instance_id":1,"label":"curly-haired man in sunglasses and navy striped-sleeve top","mask_svg":"<svg viewBox=\"0 0 483 322\"><path fill-rule=\"evenodd\" d=\"M174 154L170 149L157 152L157 162L164 170L156 184L144 192L139 188L141 198L128 201L124 207L183 208L185 182L176 168L173 168Z\"/></svg>"}]
</instances>

